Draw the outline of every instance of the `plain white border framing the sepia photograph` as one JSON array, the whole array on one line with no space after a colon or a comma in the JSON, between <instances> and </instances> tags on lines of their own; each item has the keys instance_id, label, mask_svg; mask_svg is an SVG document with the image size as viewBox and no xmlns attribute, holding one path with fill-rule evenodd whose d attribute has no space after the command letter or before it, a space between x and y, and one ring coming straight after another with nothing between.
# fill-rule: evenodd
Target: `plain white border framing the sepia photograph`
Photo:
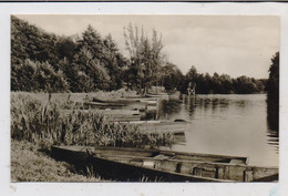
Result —
<instances>
[{"instance_id":1,"label":"plain white border framing the sepia photograph","mask_svg":"<svg viewBox=\"0 0 288 196\"><path fill-rule=\"evenodd\" d=\"M279 183L10 183L10 14L249 14L279 16L280 180ZM288 4L287 3L0 3L0 195L236 195L285 194L288 153Z\"/></svg>"}]
</instances>

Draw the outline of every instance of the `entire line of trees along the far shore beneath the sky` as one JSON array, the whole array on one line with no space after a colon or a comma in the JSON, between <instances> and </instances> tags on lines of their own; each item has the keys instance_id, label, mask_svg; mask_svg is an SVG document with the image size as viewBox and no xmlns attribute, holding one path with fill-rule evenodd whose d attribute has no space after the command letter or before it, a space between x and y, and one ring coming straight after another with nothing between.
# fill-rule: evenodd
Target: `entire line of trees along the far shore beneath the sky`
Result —
<instances>
[{"instance_id":1,"label":"entire line of trees along the far shore beneath the sky","mask_svg":"<svg viewBox=\"0 0 288 196\"><path fill-rule=\"evenodd\" d=\"M163 52L162 35L143 28L124 27L127 56L112 35L102 37L91 25L81 34L59 37L11 17L11 90L27 92L95 92L121 87L146 94L161 85L168 92L250 94L266 91L269 81L248 76L198 73L192 66L183 74Z\"/></svg>"}]
</instances>

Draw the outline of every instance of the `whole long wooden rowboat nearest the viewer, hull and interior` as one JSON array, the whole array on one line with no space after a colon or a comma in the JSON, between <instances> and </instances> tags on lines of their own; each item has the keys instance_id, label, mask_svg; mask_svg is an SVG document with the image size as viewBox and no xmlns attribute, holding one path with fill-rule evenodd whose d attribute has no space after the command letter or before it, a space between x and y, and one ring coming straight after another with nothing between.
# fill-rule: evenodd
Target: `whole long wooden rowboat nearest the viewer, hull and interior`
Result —
<instances>
[{"instance_id":1,"label":"whole long wooden rowboat nearest the viewer, hull and interior","mask_svg":"<svg viewBox=\"0 0 288 196\"><path fill-rule=\"evenodd\" d=\"M122 147L52 146L52 156L116 180L143 176L164 182L270 182L278 168L247 165L247 157Z\"/></svg>"}]
</instances>

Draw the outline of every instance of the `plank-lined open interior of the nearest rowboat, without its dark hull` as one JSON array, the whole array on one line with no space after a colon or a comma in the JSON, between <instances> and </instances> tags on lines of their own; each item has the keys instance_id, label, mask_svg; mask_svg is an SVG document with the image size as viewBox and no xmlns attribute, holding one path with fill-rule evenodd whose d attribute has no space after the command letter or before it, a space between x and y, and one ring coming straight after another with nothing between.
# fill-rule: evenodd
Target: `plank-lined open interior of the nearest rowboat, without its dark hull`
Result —
<instances>
[{"instance_id":1,"label":"plank-lined open interior of the nearest rowboat, without its dark hull","mask_svg":"<svg viewBox=\"0 0 288 196\"><path fill-rule=\"evenodd\" d=\"M146 157L123 155L100 155L102 158L137 167L157 169L166 173L188 175L200 178L223 179L232 182L260 180L275 176L277 168L253 167L241 159L204 158L200 156L153 154Z\"/></svg>"}]
</instances>

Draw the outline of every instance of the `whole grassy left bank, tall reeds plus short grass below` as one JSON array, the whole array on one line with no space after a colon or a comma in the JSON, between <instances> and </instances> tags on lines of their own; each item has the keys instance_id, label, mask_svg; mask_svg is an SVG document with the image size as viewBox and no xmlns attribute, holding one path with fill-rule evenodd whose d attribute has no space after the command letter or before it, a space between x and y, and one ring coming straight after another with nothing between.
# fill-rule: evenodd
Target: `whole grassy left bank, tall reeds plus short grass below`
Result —
<instances>
[{"instance_id":1,"label":"whole grassy left bank, tall reeds plus short grass below","mask_svg":"<svg viewBox=\"0 0 288 196\"><path fill-rule=\"evenodd\" d=\"M63 96L59 101L42 99L49 97L48 94L11 93L11 180L102 180L92 177L94 174L89 177L72 173L70 165L50 158L49 147L52 144L157 147L174 143L172 134L142 133L136 125L116 124L101 112L74 110L79 106L75 99L70 95L73 101L68 102ZM82 95L83 99L85 96ZM61 110L66 106L72 112L62 115Z\"/></svg>"}]
</instances>

